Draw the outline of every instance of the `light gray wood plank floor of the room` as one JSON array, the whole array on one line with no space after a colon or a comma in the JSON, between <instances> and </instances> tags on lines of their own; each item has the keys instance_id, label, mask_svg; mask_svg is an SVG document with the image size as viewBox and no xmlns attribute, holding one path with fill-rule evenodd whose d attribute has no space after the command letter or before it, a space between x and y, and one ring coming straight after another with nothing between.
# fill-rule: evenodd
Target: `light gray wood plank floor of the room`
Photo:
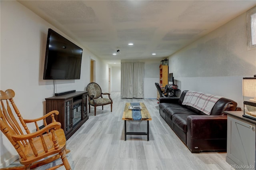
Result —
<instances>
[{"instance_id":1,"label":"light gray wood plank floor of the room","mask_svg":"<svg viewBox=\"0 0 256 170\"><path fill-rule=\"evenodd\" d=\"M192 154L159 115L156 99L120 99L120 92L112 92L111 97L113 112L106 105L103 111L97 107L94 116L91 107L88 121L67 140L67 148L71 150L67 158L73 170L231 169L225 160L226 153ZM152 117L149 141L146 135L127 135L124 141L122 113L126 102L145 103ZM129 129L146 131L146 121L129 121Z\"/></svg>"}]
</instances>

